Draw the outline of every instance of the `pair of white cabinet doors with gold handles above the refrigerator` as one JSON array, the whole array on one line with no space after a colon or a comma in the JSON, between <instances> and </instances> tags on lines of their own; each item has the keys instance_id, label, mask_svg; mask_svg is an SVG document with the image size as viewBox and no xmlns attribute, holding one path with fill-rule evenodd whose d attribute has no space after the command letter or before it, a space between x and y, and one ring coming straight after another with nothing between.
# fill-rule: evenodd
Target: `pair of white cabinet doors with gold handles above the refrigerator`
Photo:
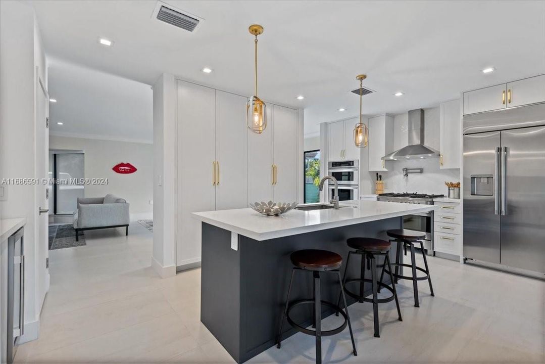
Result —
<instances>
[{"instance_id":1,"label":"pair of white cabinet doors with gold handles above the refrigerator","mask_svg":"<svg viewBox=\"0 0 545 364\"><path fill-rule=\"evenodd\" d=\"M545 102L545 75L464 92L464 115Z\"/></svg>"}]
</instances>

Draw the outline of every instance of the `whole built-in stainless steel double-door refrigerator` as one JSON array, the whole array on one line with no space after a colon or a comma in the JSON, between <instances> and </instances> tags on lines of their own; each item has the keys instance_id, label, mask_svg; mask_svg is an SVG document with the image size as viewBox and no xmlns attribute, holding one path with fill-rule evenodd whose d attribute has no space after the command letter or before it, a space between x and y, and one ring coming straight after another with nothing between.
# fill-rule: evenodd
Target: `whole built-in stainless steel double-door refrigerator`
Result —
<instances>
[{"instance_id":1,"label":"whole built-in stainless steel double-door refrigerator","mask_svg":"<svg viewBox=\"0 0 545 364\"><path fill-rule=\"evenodd\" d=\"M545 104L464 117L464 258L545 276Z\"/></svg>"}]
</instances>

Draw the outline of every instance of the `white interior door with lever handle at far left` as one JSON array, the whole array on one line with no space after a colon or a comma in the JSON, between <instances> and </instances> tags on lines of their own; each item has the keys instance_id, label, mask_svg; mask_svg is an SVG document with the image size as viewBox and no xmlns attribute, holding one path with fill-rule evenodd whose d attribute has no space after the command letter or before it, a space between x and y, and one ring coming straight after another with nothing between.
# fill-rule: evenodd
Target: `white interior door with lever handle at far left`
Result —
<instances>
[{"instance_id":1,"label":"white interior door with lever handle at far left","mask_svg":"<svg viewBox=\"0 0 545 364\"><path fill-rule=\"evenodd\" d=\"M38 75L38 68L36 70ZM49 97L43 81L37 77L37 108L36 108L36 177L47 181L49 177ZM37 216L37 294L39 307L44 303L45 294L49 290L49 269L46 259L49 258L49 183L36 184L36 216Z\"/></svg>"}]
</instances>

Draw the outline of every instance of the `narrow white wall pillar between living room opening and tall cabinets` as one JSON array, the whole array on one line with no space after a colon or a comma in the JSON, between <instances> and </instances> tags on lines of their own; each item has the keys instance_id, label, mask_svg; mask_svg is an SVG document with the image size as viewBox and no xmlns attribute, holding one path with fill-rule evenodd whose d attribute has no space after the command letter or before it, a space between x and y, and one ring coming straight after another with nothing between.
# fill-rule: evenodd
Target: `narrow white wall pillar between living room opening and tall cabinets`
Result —
<instances>
[{"instance_id":1,"label":"narrow white wall pillar between living room opening and tall cabinets","mask_svg":"<svg viewBox=\"0 0 545 364\"><path fill-rule=\"evenodd\" d=\"M163 278L176 274L176 82L162 74L153 86L153 257Z\"/></svg>"}]
</instances>

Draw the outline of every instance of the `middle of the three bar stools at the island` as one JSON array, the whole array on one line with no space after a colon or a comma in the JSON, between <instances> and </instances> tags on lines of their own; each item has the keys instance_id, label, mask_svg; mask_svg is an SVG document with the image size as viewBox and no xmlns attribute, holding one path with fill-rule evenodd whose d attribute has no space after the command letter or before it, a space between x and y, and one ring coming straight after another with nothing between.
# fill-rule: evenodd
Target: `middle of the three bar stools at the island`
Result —
<instances>
[{"instance_id":1,"label":"middle of the three bar stools at the island","mask_svg":"<svg viewBox=\"0 0 545 364\"><path fill-rule=\"evenodd\" d=\"M391 243L389 241L370 238L370 237L351 237L347 239L346 243L348 244L350 248L356 249L356 251L348 252L346 269L344 270L344 275L343 275L344 291L346 292L347 295L349 295L350 297L353 297L359 302L373 303L374 336L380 337L379 324L378 324L378 304L379 303L385 303L385 302L390 302L395 300L396 307L397 307L398 320L403 321L403 319L401 318L401 309L399 309L399 301L397 300L396 285L393 283L392 273L390 273L390 279L392 280L392 287L382 282L382 278L383 278L382 274L380 275L380 281L377 281L377 275L378 275L377 256L384 256L383 273L384 273L384 267L386 266L386 264L390 268L390 271L392 270L392 267L390 265L390 256L389 256ZM361 275L360 275L360 278L346 279L348 267L349 267L348 264L350 262L350 255L352 254L361 255ZM365 262L366 261L367 261L367 269L371 270L371 279L365 278ZM353 293L347 288L347 284L353 283L353 282L360 282L359 294ZM372 299L368 299L367 297L365 297L364 284L366 282L371 283L372 285L372 289L373 289ZM392 295L384 299L379 299L378 293L380 292L381 287L389 290L392 293ZM341 297L339 297L339 300L341 300Z\"/></svg>"}]
</instances>

